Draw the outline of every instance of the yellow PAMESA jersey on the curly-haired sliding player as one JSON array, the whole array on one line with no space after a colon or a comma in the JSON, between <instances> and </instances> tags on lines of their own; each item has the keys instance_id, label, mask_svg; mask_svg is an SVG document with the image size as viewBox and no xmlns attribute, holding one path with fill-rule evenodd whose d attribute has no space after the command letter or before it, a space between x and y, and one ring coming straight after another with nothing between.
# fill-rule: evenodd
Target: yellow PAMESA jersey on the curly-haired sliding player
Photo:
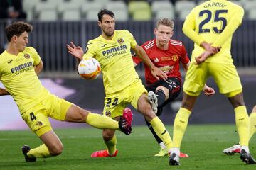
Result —
<instances>
[{"instance_id":1,"label":"yellow PAMESA jersey on the curly-haired sliding player","mask_svg":"<svg viewBox=\"0 0 256 170\"><path fill-rule=\"evenodd\" d=\"M14 98L21 114L49 93L34 71L34 65L40 61L41 58L33 47L26 47L18 55L11 55L6 51L0 55L0 81Z\"/></svg>"}]
</instances>

